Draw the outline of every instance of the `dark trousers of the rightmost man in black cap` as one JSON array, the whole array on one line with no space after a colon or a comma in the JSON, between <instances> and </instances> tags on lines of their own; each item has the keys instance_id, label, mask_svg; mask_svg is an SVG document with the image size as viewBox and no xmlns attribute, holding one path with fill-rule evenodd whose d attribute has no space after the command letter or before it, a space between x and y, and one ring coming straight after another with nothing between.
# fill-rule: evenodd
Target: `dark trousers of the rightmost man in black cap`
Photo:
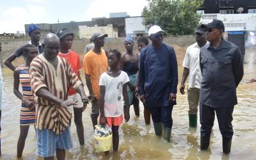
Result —
<instances>
[{"instance_id":1,"label":"dark trousers of the rightmost man in black cap","mask_svg":"<svg viewBox=\"0 0 256 160\"><path fill-rule=\"evenodd\" d=\"M215 113L218 119L219 129L223 138L230 140L234 134L232 127L232 113L234 106L212 108L200 103L201 137L209 138L214 124ZM215 113L214 113L215 111Z\"/></svg>"}]
</instances>

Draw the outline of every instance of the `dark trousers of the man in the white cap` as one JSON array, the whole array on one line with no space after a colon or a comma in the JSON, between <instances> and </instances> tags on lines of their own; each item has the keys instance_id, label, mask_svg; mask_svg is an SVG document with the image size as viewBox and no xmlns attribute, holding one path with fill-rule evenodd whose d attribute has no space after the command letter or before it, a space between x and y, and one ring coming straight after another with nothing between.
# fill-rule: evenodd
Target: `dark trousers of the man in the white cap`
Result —
<instances>
[{"instance_id":1,"label":"dark trousers of the man in the white cap","mask_svg":"<svg viewBox=\"0 0 256 160\"><path fill-rule=\"evenodd\" d=\"M172 128L173 106L162 106L148 109L150 110L153 123L162 122L164 127Z\"/></svg>"}]
</instances>

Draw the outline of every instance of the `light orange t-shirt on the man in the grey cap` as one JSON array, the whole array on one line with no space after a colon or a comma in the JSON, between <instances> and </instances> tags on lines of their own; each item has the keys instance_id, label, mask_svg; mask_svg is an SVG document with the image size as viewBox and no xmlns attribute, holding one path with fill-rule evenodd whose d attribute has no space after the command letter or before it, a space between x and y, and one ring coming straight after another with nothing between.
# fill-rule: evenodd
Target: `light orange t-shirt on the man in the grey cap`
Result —
<instances>
[{"instance_id":1,"label":"light orange t-shirt on the man in the grey cap","mask_svg":"<svg viewBox=\"0 0 256 160\"><path fill-rule=\"evenodd\" d=\"M92 91L97 95L97 99L100 97L100 75L107 70L108 58L103 49L101 49L101 54L96 54L93 50L90 50L84 55L84 74L90 75Z\"/></svg>"}]
</instances>

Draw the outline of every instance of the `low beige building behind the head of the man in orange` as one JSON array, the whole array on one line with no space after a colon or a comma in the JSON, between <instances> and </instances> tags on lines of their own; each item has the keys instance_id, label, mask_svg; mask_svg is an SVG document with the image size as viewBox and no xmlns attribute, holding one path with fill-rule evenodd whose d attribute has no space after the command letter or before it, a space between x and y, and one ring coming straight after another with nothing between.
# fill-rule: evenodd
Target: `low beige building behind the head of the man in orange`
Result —
<instances>
[{"instance_id":1,"label":"low beige building behind the head of the man in orange","mask_svg":"<svg viewBox=\"0 0 256 160\"><path fill-rule=\"evenodd\" d=\"M79 37L80 38L91 38L93 33L101 32L108 34L108 37L118 37L117 29L113 28L112 24L108 24L107 26L79 26Z\"/></svg>"}]
</instances>

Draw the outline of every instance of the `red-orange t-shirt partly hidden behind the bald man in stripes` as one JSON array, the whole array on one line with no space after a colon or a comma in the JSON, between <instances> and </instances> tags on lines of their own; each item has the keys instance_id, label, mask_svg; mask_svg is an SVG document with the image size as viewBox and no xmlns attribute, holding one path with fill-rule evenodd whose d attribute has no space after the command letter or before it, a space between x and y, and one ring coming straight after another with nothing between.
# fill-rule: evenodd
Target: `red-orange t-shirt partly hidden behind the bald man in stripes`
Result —
<instances>
[{"instance_id":1,"label":"red-orange t-shirt partly hidden behind the bald man in stripes","mask_svg":"<svg viewBox=\"0 0 256 160\"><path fill-rule=\"evenodd\" d=\"M74 70L76 75L78 71L82 69L79 55L76 52L69 51L67 54L63 54L59 52L58 56L65 58L68 61L68 63L71 65L71 68ZM68 89L68 95L74 95L75 93L76 91L73 90L71 87Z\"/></svg>"}]
</instances>

